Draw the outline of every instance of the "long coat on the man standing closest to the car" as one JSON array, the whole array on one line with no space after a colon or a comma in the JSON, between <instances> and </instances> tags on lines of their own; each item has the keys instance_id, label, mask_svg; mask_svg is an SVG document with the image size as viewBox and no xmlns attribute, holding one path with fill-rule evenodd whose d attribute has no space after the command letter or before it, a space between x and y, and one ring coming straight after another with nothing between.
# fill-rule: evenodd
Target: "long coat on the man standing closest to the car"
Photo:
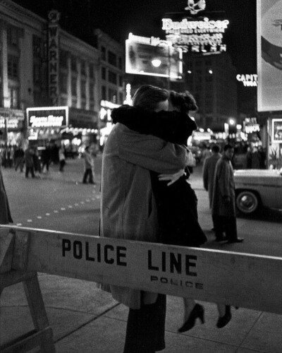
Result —
<instances>
[{"instance_id":1,"label":"long coat on the man standing closest to the car","mask_svg":"<svg viewBox=\"0 0 282 353\"><path fill-rule=\"evenodd\" d=\"M230 198L229 202L224 199ZM235 217L235 181L231 161L223 155L216 163L214 191L212 196L212 214Z\"/></svg>"}]
</instances>

